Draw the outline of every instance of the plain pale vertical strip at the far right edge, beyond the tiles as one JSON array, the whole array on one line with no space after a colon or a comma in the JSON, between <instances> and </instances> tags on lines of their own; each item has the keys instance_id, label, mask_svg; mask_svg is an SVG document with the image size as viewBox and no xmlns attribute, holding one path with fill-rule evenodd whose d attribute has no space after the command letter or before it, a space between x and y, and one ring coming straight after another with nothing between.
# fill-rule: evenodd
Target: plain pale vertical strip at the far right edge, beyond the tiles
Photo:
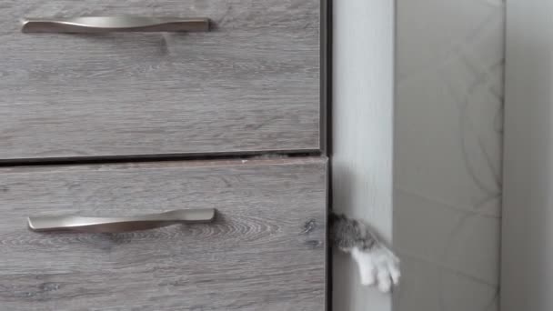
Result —
<instances>
[{"instance_id":1,"label":"plain pale vertical strip at the far right edge, beyond the tiles","mask_svg":"<svg viewBox=\"0 0 553 311\"><path fill-rule=\"evenodd\" d=\"M553 310L553 2L507 1L501 311Z\"/></svg>"}]
</instances>

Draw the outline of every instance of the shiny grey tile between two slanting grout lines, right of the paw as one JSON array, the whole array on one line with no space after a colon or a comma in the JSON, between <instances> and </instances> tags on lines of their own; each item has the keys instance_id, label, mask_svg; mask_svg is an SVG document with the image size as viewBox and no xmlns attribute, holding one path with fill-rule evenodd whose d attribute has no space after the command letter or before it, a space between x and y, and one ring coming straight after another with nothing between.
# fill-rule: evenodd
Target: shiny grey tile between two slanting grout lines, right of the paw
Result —
<instances>
[{"instance_id":1,"label":"shiny grey tile between two slanting grout lines, right of the paw","mask_svg":"<svg viewBox=\"0 0 553 311\"><path fill-rule=\"evenodd\" d=\"M497 285L499 218L396 189L394 246L478 282Z\"/></svg>"}]
</instances>

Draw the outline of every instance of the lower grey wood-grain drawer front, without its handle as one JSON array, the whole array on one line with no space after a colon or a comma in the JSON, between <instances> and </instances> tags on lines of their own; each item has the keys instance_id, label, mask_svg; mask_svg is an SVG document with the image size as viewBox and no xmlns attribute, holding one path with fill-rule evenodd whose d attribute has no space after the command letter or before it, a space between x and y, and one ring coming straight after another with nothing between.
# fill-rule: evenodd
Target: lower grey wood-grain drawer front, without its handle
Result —
<instances>
[{"instance_id":1,"label":"lower grey wood-grain drawer front, without its handle","mask_svg":"<svg viewBox=\"0 0 553 311\"><path fill-rule=\"evenodd\" d=\"M321 159L0 169L0 306L10 311L325 307ZM25 216L216 207L212 224L38 234Z\"/></svg>"}]
</instances>

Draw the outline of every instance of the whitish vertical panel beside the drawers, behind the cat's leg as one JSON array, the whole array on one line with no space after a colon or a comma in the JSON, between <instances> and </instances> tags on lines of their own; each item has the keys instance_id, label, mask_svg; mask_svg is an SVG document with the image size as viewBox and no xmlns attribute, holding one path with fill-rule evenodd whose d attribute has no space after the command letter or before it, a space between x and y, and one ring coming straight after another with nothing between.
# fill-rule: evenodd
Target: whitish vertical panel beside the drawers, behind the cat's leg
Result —
<instances>
[{"instance_id":1,"label":"whitish vertical panel beside the drawers, behind the cat's leg","mask_svg":"<svg viewBox=\"0 0 553 311\"><path fill-rule=\"evenodd\" d=\"M333 208L392 235L394 1L333 3ZM333 310L387 311L391 298L359 285L349 256L333 255Z\"/></svg>"}]
</instances>

